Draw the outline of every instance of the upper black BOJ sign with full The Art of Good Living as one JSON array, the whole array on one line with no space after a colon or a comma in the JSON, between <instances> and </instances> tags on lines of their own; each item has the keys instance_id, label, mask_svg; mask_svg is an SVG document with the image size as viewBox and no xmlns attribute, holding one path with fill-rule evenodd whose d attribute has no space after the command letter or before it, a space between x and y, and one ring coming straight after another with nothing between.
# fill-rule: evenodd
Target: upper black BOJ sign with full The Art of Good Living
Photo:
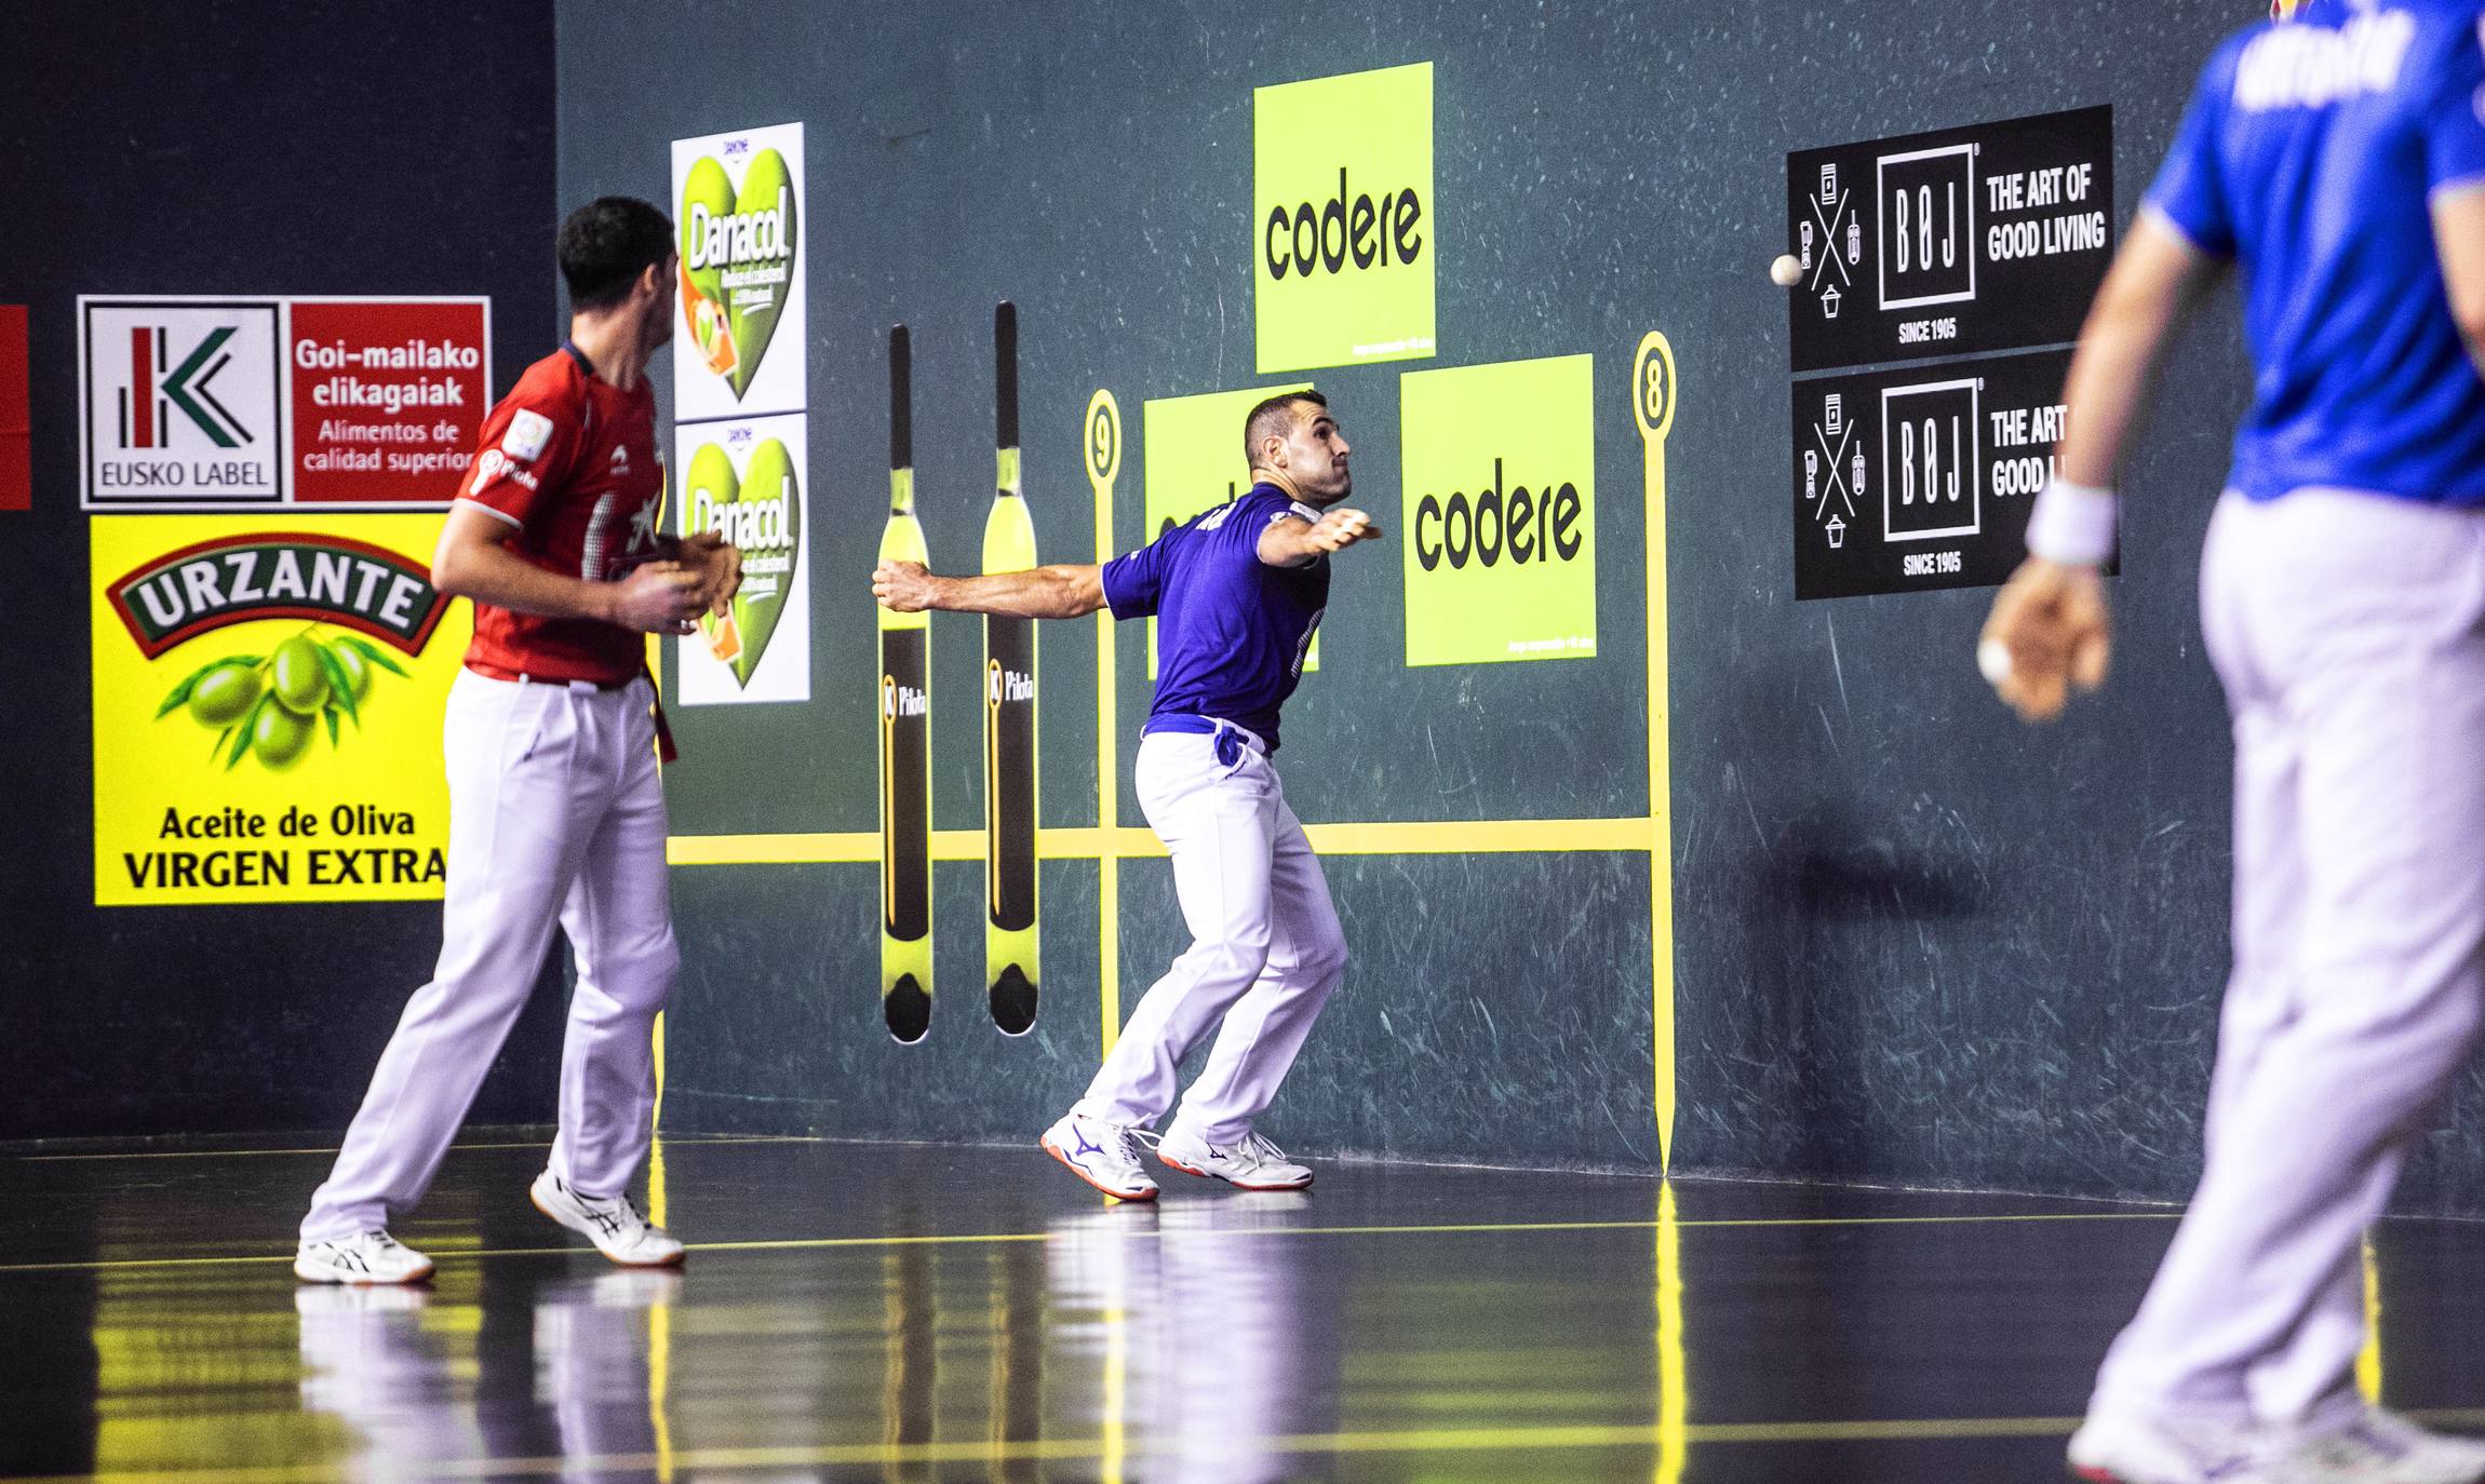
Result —
<instances>
[{"instance_id":1,"label":"upper black BOJ sign with full The Art of Good Living","mask_svg":"<svg viewBox=\"0 0 2485 1484\"><path fill-rule=\"evenodd\" d=\"M2115 109L1787 154L1794 370L2060 346L2115 256Z\"/></svg>"}]
</instances>

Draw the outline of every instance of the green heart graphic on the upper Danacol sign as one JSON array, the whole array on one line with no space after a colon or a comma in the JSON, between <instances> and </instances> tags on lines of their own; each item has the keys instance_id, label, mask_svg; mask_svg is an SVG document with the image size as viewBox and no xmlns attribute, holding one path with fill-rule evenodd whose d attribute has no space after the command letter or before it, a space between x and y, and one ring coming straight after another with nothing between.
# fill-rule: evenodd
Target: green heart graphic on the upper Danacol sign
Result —
<instances>
[{"instance_id":1,"label":"green heart graphic on the upper Danacol sign","mask_svg":"<svg viewBox=\"0 0 2485 1484\"><path fill-rule=\"evenodd\" d=\"M760 149L736 191L726 167L698 159L681 184L681 313L696 355L741 398L758 378L793 293L800 241L793 172Z\"/></svg>"}]
</instances>

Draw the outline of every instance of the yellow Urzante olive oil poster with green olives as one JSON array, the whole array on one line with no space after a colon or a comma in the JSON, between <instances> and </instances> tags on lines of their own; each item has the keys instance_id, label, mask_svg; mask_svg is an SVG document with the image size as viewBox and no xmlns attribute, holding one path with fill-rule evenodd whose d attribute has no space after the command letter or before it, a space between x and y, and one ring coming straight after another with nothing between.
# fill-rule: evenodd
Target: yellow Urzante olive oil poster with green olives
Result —
<instances>
[{"instance_id":1,"label":"yellow Urzante olive oil poster with green olives","mask_svg":"<svg viewBox=\"0 0 2485 1484\"><path fill-rule=\"evenodd\" d=\"M92 522L94 902L437 900L440 515Z\"/></svg>"}]
</instances>

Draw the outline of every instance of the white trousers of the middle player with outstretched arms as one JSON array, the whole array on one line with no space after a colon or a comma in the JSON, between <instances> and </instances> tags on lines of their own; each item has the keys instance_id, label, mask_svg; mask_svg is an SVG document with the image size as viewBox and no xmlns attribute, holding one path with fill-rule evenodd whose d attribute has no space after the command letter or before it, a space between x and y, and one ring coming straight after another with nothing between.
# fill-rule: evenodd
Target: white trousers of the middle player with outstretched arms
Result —
<instances>
[{"instance_id":1,"label":"white trousers of the middle player with outstretched arms","mask_svg":"<svg viewBox=\"0 0 2485 1484\"><path fill-rule=\"evenodd\" d=\"M1173 1106L1183 1056L1223 1017L1175 1124L1240 1143L1337 989L1347 937L1302 820L1255 748L1220 763L1213 736L1151 733L1133 783L1173 855L1190 950L1131 1012L1076 1111L1153 1126Z\"/></svg>"}]
</instances>

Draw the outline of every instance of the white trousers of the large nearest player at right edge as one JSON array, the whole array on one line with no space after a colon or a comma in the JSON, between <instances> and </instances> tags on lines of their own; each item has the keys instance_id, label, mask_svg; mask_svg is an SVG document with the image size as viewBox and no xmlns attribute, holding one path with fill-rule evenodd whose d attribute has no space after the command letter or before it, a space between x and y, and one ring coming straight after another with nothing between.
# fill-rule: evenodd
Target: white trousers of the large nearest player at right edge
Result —
<instances>
[{"instance_id":1,"label":"white trousers of the large nearest player at right edge","mask_svg":"<svg viewBox=\"0 0 2485 1484\"><path fill-rule=\"evenodd\" d=\"M2234 713L2234 977L2207 1163L2097 1409L2353 1404L2358 1245L2485 1009L2485 515L2227 495L2202 626Z\"/></svg>"}]
</instances>

